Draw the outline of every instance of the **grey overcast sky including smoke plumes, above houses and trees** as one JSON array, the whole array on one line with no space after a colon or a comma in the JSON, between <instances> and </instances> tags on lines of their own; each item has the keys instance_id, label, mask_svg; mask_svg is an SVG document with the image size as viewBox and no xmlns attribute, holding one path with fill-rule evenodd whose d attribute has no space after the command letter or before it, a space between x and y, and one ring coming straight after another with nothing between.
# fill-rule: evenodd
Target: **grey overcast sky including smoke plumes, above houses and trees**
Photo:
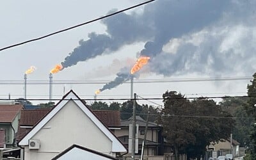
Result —
<instances>
[{"instance_id":1,"label":"grey overcast sky including smoke plumes, above houses and trees","mask_svg":"<svg viewBox=\"0 0 256 160\"><path fill-rule=\"evenodd\" d=\"M0 48L141 2L1 1ZM166 90L187 97L246 95L250 79L163 81L252 76L256 68L254 7L255 1L250 0L157 0L65 33L0 51L0 98L8 98L8 93L12 99L24 97L23 84L3 84L5 81L22 83L24 72L35 66L36 70L28 74L28 83L47 83L50 70L58 63L64 68L53 75L53 81L92 83L54 84L54 99L61 99L64 86L65 92L73 89L82 99L93 99L96 90L115 80L120 85L110 83L97 98L130 98L130 84L124 82L129 82L129 70L139 56L150 56L148 65L134 79L144 82L134 83L134 92L141 97L161 98ZM152 79L161 83L152 83ZM48 99L49 85L28 84L27 98ZM161 104L161 100L152 101Z\"/></svg>"}]
</instances>

